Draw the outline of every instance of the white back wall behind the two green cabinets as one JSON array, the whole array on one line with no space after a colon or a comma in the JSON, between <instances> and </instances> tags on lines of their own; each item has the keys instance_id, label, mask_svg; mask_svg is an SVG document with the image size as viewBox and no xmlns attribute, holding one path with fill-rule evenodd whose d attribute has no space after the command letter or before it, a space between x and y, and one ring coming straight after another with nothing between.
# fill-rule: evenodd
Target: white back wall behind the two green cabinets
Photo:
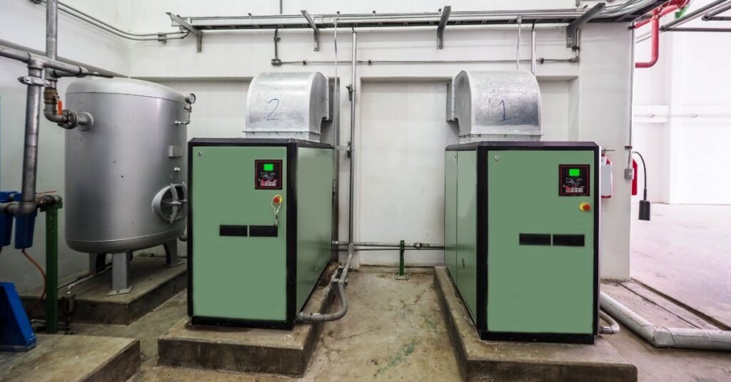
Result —
<instances>
[{"instance_id":1,"label":"white back wall behind the two green cabinets","mask_svg":"<svg viewBox=\"0 0 731 382\"><path fill-rule=\"evenodd\" d=\"M0 0L2 1L2 0ZM500 3L500 4L499 4ZM505 3L505 4L503 4ZM509 4L508 4L509 3ZM569 4L571 3L571 4ZM132 31L168 31L170 20L164 12L186 15L246 15L276 13L276 1L141 1L130 0L129 28ZM379 12L433 11L441 4L423 2L379 1L378 3L341 4L336 1L284 1L285 13L299 9L311 12ZM507 4L507 5L506 5ZM526 1L525 7L547 7L545 1ZM555 7L572 7L573 1L550 3ZM568 4L568 5L567 5ZM505 1L483 4L461 1L452 9L515 8ZM82 6L80 6L82 7ZM123 6L121 6L123 7ZM83 8L83 7L82 7ZM124 7L123 7L124 8ZM367 9L366 9L367 8ZM83 8L86 9L86 8ZM91 12L91 10L90 10ZM120 23L124 24L124 12ZM333 32L323 31L320 51L312 49L311 31L280 31L279 55L284 61L331 60ZM79 32L80 39L86 32ZM96 31L94 34L103 34ZM194 39L129 44L120 50L126 58L117 70L170 85L183 92L197 93L189 137L237 137L243 130L246 89L251 77L260 72L321 71L334 75L333 65L271 66L273 31L206 34L203 51L197 53ZM447 28L444 49L436 50L433 28L413 31L360 31L360 59L513 59L515 28ZM99 37L95 37L99 38ZM540 28L537 54L545 58L571 58L565 46L562 28ZM529 33L523 33L522 69L529 69ZM101 48L99 48L101 49ZM340 30L338 53L349 59L351 34ZM126 52L126 53L125 53ZM115 53L115 54L119 54ZM104 56L102 55L99 56ZM104 58L88 57L102 63ZM124 66L125 64L123 64ZM360 65L355 78L355 240L400 240L441 242L443 213L443 149L456 141L455 130L445 121L446 81L460 70L515 69L513 63L492 64L373 64ZM349 64L338 68L341 84L352 83ZM626 24L590 24L584 28L581 63L548 63L537 72L543 98L543 121L546 140L595 140L602 147L615 148L610 153L616 163L626 163L629 123L629 32ZM11 77L12 80L12 77ZM343 89L344 91L344 89ZM406 100L404 102L404 99ZM398 107L399 100L404 107ZM349 102L341 96L341 142L349 137ZM50 144L50 145L53 145ZM62 145L59 140L56 145ZM5 144L3 143L3 148ZM42 148L44 150L44 148ZM384 164L408 168L407 177L385 184L381 172ZM347 233L348 159L341 153L340 239ZM58 161L57 170L61 170ZM603 202L602 276L629 277L629 197L628 187L616 167L616 197ZM384 219L387 216L388 219ZM412 257L413 256L413 257ZM437 264L441 253L409 253L407 261ZM368 253L356 264L397 264L395 253ZM412 263L413 264L413 263Z\"/></svg>"}]
</instances>

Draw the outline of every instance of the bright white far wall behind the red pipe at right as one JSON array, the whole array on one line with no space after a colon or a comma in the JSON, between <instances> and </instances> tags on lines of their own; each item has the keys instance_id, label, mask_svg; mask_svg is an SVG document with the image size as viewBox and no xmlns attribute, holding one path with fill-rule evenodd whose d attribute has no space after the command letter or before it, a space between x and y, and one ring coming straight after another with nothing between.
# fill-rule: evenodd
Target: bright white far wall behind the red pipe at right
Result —
<instances>
[{"instance_id":1,"label":"bright white far wall behind the red pipe at right","mask_svg":"<svg viewBox=\"0 0 731 382\"><path fill-rule=\"evenodd\" d=\"M709 2L694 1L689 12ZM669 20L672 16L663 23ZM731 27L731 23L696 20L683 26ZM638 34L647 31L645 26ZM724 75L731 60L728 36L664 33L660 42L658 63L651 69L635 70L633 145L647 161L649 199L730 205L731 177L726 162L731 140L731 77ZM646 61L649 53L649 40L637 45L637 61ZM648 118L648 114L658 117ZM691 114L698 117L689 118ZM641 164L639 175L641 196Z\"/></svg>"}]
</instances>

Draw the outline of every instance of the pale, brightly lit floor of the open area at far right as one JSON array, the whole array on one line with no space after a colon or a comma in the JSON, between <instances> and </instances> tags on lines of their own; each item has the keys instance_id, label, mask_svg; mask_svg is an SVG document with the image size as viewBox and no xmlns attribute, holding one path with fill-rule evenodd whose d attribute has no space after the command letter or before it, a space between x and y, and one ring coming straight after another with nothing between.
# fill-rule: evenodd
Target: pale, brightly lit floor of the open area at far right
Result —
<instances>
[{"instance_id":1,"label":"pale, brightly lit floor of the open area at far right","mask_svg":"<svg viewBox=\"0 0 731 382\"><path fill-rule=\"evenodd\" d=\"M731 328L731 206L632 208L632 278Z\"/></svg>"}]
</instances>

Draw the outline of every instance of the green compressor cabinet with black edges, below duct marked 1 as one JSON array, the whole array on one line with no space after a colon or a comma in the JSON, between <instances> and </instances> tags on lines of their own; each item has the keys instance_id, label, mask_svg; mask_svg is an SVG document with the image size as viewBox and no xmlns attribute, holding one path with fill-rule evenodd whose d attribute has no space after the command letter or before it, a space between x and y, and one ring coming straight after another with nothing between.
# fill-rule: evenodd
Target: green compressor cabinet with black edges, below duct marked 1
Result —
<instances>
[{"instance_id":1,"label":"green compressor cabinet with black edges, below duct marked 1","mask_svg":"<svg viewBox=\"0 0 731 382\"><path fill-rule=\"evenodd\" d=\"M447 147L444 262L483 340L594 343L598 172L593 142Z\"/></svg>"}]
</instances>

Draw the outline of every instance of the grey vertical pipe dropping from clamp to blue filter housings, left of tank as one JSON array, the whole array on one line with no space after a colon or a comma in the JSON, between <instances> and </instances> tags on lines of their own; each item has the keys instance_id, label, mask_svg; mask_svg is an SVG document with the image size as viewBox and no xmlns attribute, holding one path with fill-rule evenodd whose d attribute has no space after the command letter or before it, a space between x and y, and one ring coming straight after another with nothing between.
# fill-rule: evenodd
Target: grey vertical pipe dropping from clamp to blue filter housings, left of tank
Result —
<instances>
[{"instance_id":1,"label":"grey vertical pipe dropping from clamp to blue filter housings, left of tank","mask_svg":"<svg viewBox=\"0 0 731 382\"><path fill-rule=\"evenodd\" d=\"M31 61L29 77L42 78L42 65ZM29 84L26 93L26 137L23 149L23 196L17 215L27 215L36 208L36 169L38 166L38 124L41 107L41 86Z\"/></svg>"}]
</instances>

